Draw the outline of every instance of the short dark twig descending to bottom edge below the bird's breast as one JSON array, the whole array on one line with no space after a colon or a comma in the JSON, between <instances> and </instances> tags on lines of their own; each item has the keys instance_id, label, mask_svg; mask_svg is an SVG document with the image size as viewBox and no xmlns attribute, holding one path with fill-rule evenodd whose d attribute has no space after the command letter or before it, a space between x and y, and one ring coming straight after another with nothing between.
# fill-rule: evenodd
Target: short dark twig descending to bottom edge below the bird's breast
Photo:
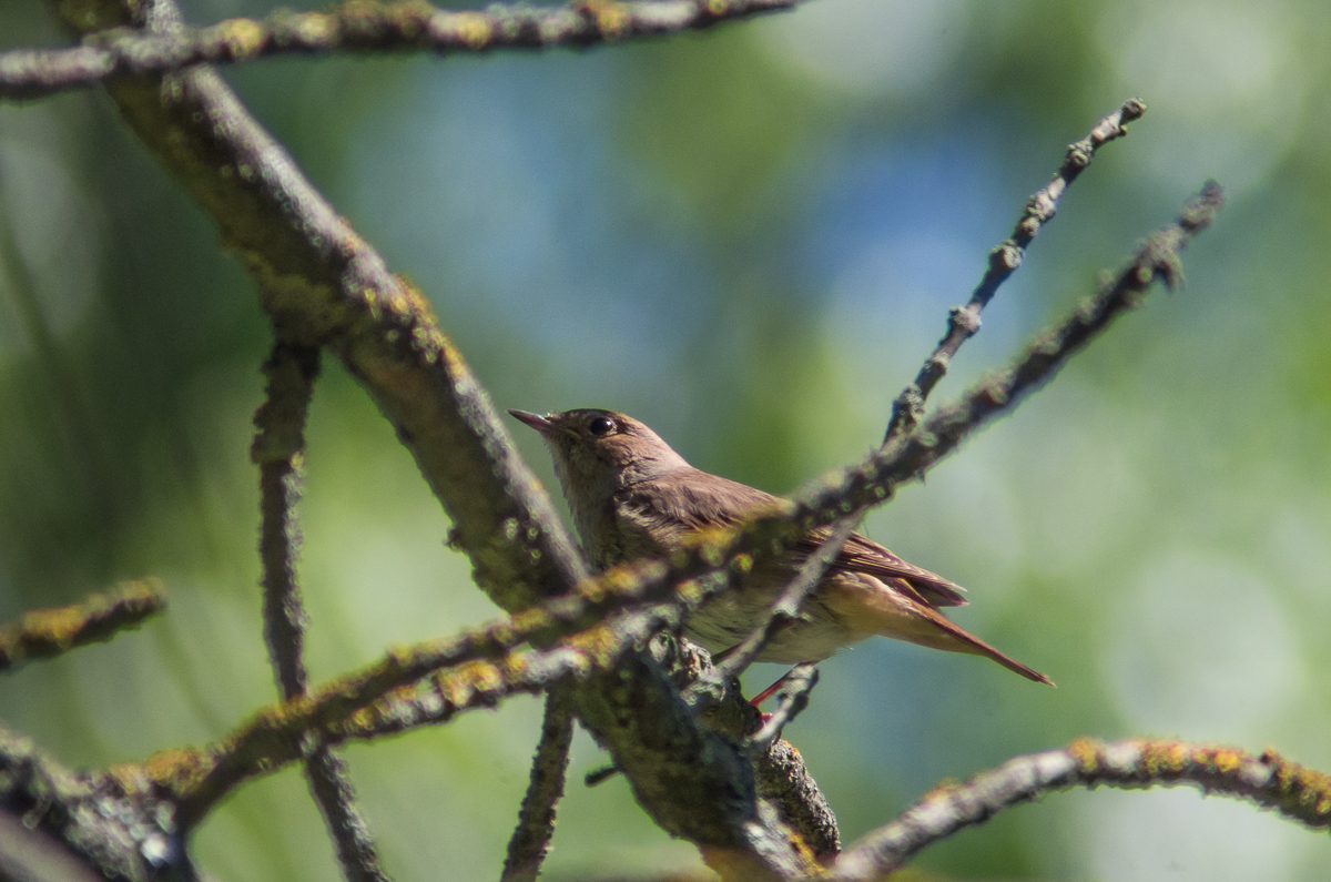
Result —
<instances>
[{"instance_id":1,"label":"short dark twig descending to bottom edge below the bird's breast","mask_svg":"<svg viewBox=\"0 0 1331 882\"><path fill-rule=\"evenodd\" d=\"M564 794L572 739L572 701L566 689L556 686L546 695L546 718L531 762L531 783L518 811L518 827L508 839L500 882L532 882L540 874L555 833L555 803Z\"/></svg>"}]
</instances>

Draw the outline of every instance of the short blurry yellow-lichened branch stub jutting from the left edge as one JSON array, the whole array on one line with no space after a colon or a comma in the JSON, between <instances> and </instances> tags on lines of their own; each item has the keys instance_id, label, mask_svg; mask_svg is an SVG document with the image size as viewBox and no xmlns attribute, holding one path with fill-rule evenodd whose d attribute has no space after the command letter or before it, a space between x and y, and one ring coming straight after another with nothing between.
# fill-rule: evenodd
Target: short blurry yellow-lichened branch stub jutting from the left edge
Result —
<instances>
[{"instance_id":1,"label":"short blurry yellow-lichened branch stub jutting from the left edge","mask_svg":"<svg viewBox=\"0 0 1331 882\"><path fill-rule=\"evenodd\" d=\"M55 658L76 646L110 640L138 628L166 606L166 592L154 578L121 582L104 594L71 606L24 613L0 628L0 671L33 658Z\"/></svg>"}]
</instances>

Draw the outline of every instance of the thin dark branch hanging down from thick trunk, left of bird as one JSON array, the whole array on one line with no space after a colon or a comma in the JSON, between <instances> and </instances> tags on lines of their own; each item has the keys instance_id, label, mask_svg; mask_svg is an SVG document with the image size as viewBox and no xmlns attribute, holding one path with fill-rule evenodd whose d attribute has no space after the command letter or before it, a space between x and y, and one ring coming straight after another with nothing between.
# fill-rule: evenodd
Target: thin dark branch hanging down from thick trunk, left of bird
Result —
<instances>
[{"instance_id":1,"label":"thin dark branch hanging down from thick trunk, left of bird","mask_svg":"<svg viewBox=\"0 0 1331 882\"><path fill-rule=\"evenodd\" d=\"M254 414L258 433L250 457L260 468L260 558L264 561L264 640L284 699L305 694L305 605L295 584L301 532L295 504L301 498L305 418L319 350L278 341L264 365L268 397ZM355 805L346 763L327 745L306 742L305 777L337 849L347 882L387 882L369 826Z\"/></svg>"}]
</instances>

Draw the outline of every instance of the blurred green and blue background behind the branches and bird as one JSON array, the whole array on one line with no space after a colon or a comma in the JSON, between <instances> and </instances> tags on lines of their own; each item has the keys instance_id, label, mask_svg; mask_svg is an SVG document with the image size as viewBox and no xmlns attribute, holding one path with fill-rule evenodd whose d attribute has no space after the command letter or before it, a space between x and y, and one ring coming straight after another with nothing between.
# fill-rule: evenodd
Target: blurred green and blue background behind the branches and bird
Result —
<instances>
[{"instance_id":1,"label":"blurred green and blue background behind the branches and bird","mask_svg":"<svg viewBox=\"0 0 1331 882\"><path fill-rule=\"evenodd\" d=\"M262 15L190 0L190 21ZM0 44L53 45L37 0ZM942 777L1078 734L1275 746L1331 769L1331 9L820 0L584 53L284 59L224 71L431 297L500 408L607 406L788 492L865 454L1026 196L1105 149L937 398L1001 365L1207 177L1217 225L1047 389L872 514L970 588L968 629L1049 673L874 641L787 731L849 841ZM0 618L157 574L169 612L0 681L0 717L102 765L274 698L246 452L269 330L210 222L97 93L0 105ZM21 284L21 276L31 285ZM514 434L554 486L534 433ZM309 663L495 610L366 396L325 362L301 577ZM749 686L779 673L759 666ZM539 703L347 751L390 873L498 877ZM699 866L579 734L554 879ZM194 839L220 879L333 879L295 771ZM1331 878L1331 841L1195 791L1075 793L930 849L956 879Z\"/></svg>"}]
</instances>

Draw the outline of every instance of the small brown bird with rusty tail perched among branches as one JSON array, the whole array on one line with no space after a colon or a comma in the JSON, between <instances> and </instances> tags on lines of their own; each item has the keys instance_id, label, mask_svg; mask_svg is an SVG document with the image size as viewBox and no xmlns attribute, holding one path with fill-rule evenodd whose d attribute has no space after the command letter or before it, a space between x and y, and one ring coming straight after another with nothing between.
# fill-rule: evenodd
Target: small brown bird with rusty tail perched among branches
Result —
<instances>
[{"instance_id":1,"label":"small brown bird with rusty tail perched among branches","mask_svg":"<svg viewBox=\"0 0 1331 882\"><path fill-rule=\"evenodd\" d=\"M539 432L578 533L598 568L639 557L666 557L699 530L779 512L784 502L737 481L708 474L646 425L612 410L538 416L510 410ZM735 590L704 604L685 633L713 653L743 641L763 620L828 530L815 530L788 554L760 565ZM964 590L852 533L827 576L804 602L800 620L776 633L757 661L821 661L873 636L994 660L1028 679L1053 681L954 625L941 606L964 606Z\"/></svg>"}]
</instances>

